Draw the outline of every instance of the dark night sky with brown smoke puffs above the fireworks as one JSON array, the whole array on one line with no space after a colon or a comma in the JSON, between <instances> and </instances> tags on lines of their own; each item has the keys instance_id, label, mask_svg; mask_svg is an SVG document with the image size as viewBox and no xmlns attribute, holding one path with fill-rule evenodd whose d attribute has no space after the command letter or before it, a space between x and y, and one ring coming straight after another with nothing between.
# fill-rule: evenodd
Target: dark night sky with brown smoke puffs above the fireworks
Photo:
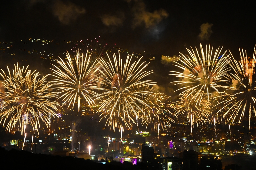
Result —
<instances>
[{"instance_id":1,"label":"dark night sky with brown smoke puffs above the fireworks","mask_svg":"<svg viewBox=\"0 0 256 170\"><path fill-rule=\"evenodd\" d=\"M238 54L256 43L254 4L234 1L17 0L0 5L0 41L100 36L129 51L177 55L211 43ZM184 47L185 46L185 47Z\"/></svg>"}]
</instances>

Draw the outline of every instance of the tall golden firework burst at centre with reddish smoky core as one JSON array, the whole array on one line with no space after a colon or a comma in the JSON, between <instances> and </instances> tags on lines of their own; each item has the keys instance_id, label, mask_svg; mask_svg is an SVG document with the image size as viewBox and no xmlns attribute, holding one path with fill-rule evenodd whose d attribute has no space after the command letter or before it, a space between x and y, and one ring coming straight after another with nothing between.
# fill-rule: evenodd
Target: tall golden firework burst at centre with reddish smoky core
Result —
<instances>
[{"instance_id":1,"label":"tall golden firework burst at centre with reddish smoky core","mask_svg":"<svg viewBox=\"0 0 256 170\"><path fill-rule=\"evenodd\" d=\"M119 56L113 57L108 55L108 59L100 58L99 60L102 73L102 89L107 89L98 96L102 100L98 113L100 113L100 121L106 119L106 125L115 131L121 127L130 128L132 124L136 124L137 113L141 110L141 105L149 107L143 101L143 96L153 95L148 86L155 83L151 80L144 80L152 71L144 71L148 66L145 62L132 62L132 56L128 55L125 62Z\"/></svg>"}]
</instances>

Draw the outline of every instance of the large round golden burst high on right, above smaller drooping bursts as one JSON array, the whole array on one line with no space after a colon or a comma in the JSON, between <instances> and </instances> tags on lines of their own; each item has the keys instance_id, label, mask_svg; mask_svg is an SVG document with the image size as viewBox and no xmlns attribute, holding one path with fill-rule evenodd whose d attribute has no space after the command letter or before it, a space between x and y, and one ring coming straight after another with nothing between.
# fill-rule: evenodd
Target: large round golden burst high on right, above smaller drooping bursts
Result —
<instances>
[{"instance_id":1,"label":"large round golden burst high on right, above smaller drooping bursts","mask_svg":"<svg viewBox=\"0 0 256 170\"><path fill-rule=\"evenodd\" d=\"M180 53L179 61L174 61L174 66L181 68L183 72L171 71L176 77L180 78L179 81L173 81L175 85L183 86L178 90L183 90L181 93L188 92L189 95L193 93L194 98L199 99L202 93L206 93L209 100L210 92L219 93L220 88L229 88L228 86L221 86L219 83L228 82L229 67L230 62L229 56L225 56L226 52L221 53L220 47L213 52L206 46L204 51L202 45L200 44L201 55L196 48L194 51L187 49L189 55L183 55Z\"/></svg>"}]
</instances>

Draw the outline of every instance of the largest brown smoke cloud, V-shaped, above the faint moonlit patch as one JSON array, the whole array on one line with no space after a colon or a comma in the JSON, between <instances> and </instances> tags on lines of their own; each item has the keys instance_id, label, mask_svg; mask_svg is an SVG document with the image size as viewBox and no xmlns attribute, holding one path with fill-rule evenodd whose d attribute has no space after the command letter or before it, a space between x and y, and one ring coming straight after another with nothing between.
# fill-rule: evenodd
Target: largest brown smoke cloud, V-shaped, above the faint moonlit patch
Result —
<instances>
[{"instance_id":1,"label":"largest brown smoke cloud, V-shaped, above the faint moonlit patch","mask_svg":"<svg viewBox=\"0 0 256 170\"><path fill-rule=\"evenodd\" d=\"M135 1L132 12L134 15L132 22L133 29L142 24L145 24L146 28L156 26L164 18L169 16L164 9L155 10L153 12L147 11L146 5L142 0Z\"/></svg>"}]
</instances>

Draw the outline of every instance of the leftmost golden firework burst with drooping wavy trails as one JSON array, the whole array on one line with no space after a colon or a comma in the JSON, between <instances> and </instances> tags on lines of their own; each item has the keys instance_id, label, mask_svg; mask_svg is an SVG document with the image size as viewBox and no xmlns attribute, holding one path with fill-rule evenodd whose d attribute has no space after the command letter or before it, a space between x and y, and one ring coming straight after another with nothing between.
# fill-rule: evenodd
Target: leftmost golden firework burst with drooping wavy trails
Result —
<instances>
[{"instance_id":1,"label":"leftmost golden firework burst with drooping wavy trails","mask_svg":"<svg viewBox=\"0 0 256 170\"><path fill-rule=\"evenodd\" d=\"M6 130L11 131L17 124L20 125L23 135L24 125L32 125L33 131L40 127L40 122L44 122L49 127L50 120L48 115L57 116L55 111L60 106L58 102L53 101L58 96L51 92L51 85L47 82L46 76L41 79L39 72L28 70L28 67L19 67L14 65L14 70L10 72L7 66L8 74L1 69L0 75L4 79L2 88L4 95L0 102L0 123L6 124ZM37 131L37 133L39 133Z\"/></svg>"}]
</instances>

